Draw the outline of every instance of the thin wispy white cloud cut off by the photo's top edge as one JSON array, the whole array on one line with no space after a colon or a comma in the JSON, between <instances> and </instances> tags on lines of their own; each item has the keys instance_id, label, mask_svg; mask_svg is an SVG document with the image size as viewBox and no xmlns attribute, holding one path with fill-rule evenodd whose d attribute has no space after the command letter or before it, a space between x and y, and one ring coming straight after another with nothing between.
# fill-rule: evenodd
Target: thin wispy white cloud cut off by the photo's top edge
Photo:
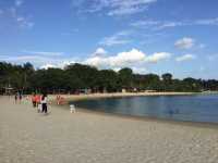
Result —
<instances>
[{"instance_id":1,"label":"thin wispy white cloud cut off by the photo's top edge","mask_svg":"<svg viewBox=\"0 0 218 163\"><path fill-rule=\"evenodd\" d=\"M80 12L99 12L107 11L107 15L130 15L145 11L150 3L157 0L94 0L92 4L88 0L73 2Z\"/></svg>"}]
</instances>

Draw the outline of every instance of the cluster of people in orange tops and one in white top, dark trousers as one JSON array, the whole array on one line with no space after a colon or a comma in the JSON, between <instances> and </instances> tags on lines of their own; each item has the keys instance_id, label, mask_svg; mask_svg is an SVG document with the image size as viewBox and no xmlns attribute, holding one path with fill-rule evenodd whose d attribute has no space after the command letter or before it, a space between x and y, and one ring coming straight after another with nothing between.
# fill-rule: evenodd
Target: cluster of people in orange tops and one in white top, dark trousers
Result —
<instances>
[{"instance_id":1,"label":"cluster of people in orange tops and one in white top, dark trousers","mask_svg":"<svg viewBox=\"0 0 218 163\"><path fill-rule=\"evenodd\" d=\"M32 95L32 103L33 103L33 108L37 108L38 112L45 113L47 114L48 112L48 105L47 105L47 95L36 95L33 93Z\"/></svg>"}]
</instances>

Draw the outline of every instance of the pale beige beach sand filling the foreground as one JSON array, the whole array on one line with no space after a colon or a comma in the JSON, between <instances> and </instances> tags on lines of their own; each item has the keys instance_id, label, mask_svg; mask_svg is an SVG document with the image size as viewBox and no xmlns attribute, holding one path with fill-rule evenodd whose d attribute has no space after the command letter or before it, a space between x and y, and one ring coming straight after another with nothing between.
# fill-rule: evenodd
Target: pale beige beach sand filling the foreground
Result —
<instances>
[{"instance_id":1,"label":"pale beige beach sand filling the foreground","mask_svg":"<svg viewBox=\"0 0 218 163\"><path fill-rule=\"evenodd\" d=\"M218 125L49 112L0 97L0 163L218 162Z\"/></svg>"}]
</instances>

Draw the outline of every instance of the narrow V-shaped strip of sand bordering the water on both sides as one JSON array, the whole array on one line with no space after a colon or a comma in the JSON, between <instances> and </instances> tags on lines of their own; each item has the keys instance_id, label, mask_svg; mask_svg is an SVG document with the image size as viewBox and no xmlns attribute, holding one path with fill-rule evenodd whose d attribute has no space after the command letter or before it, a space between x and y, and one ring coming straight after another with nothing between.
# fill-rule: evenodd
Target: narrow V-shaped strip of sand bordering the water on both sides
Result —
<instances>
[{"instance_id":1,"label":"narrow V-shaped strip of sand bordering the water on both sides","mask_svg":"<svg viewBox=\"0 0 218 163\"><path fill-rule=\"evenodd\" d=\"M196 93L196 92L156 92L156 93L105 93L105 95L80 95L80 96L68 96L65 100L68 103L62 105L57 105L58 108L68 109L70 101L80 101L80 100L92 100L92 99L100 99L100 98L119 98L119 97L140 97L140 96L194 96L194 95L209 95L209 93ZM218 123L213 122L192 122L192 121L182 121L182 120L170 120L164 117L155 117L155 116L140 116L140 115L128 115L128 114L119 114L119 113L109 113L104 111L95 111L88 110L86 108L77 108L78 112L84 112L94 115L100 116L113 116L118 118L124 120L134 120L134 121L144 121L144 122L156 122L156 123L166 123L166 124L174 124L180 126L193 126L193 127L208 127L218 129Z\"/></svg>"}]
</instances>

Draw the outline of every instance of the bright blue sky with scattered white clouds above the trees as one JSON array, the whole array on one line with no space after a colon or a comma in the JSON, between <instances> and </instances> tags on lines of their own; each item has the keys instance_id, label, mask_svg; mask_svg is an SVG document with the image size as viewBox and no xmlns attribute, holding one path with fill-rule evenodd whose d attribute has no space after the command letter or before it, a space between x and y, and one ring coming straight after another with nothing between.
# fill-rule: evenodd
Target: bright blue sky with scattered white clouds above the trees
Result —
<instances>
[{"instance_id":1,"label":"bright blue sky with scattered white clouds above the trees","mask_svg":"<svg viewBox=\"0 0 218 163\"><path fill-rule=\"evenodd\" d=\"M0 61L218 79L217 0L0 0Z\"/></svg>"}]
</instances>

